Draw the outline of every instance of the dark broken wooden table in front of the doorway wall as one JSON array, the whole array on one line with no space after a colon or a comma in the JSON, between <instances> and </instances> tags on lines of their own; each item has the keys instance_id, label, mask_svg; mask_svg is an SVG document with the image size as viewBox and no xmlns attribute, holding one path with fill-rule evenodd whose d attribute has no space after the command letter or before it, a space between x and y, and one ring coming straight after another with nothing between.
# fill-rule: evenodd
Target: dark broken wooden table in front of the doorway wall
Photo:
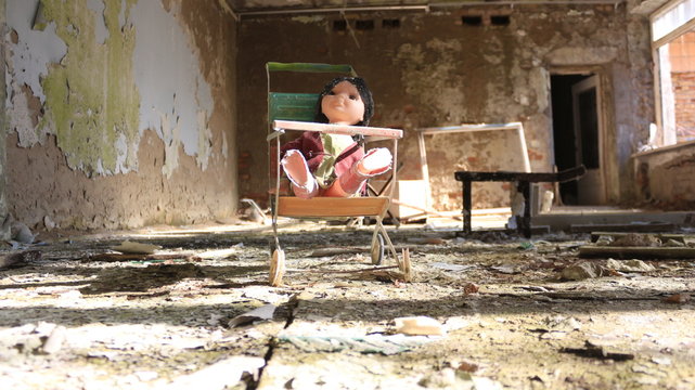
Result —
<instances>
[{"instance_id":1,"label":"dark broken wooden table in front of the doorway wall","mask_svg":"<svg viewBox=\"0 0 695 390\"><path fill-rule=\"evenodd\" d=\"M529 238L531 236L531 183L562 183L577 180L584 174L585 171L584 166L566 169L561 172L456 171L454 177L463 184L463 233L469 234L473 231L471 226L471 190L473 182L515 182L516 190L524 195L524 216L522 216L522 218L517 217L517 231Z\"/></svg>"}]
</instances>

